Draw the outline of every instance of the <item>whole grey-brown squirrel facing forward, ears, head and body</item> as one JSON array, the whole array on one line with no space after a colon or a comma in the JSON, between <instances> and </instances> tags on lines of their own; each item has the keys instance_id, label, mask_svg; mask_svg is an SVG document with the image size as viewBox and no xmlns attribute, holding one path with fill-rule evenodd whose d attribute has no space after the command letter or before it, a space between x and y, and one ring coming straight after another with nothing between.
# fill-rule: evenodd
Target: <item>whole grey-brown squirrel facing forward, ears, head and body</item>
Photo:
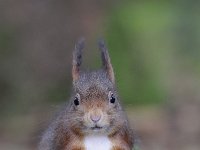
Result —
<instances>
[{"instance_id":1,"label":"whole grey-brown squirrel facing forward, ears, head and body","mask_svg":"<svg viewBox=\"0 0 200 150\"><path fill-rule=\"evenodd\" d=\"M70 101L42 135L39 150L132 150L134 134L120 104L108 50L99 41L102 68L80 70L84 39L75 45Z\"/></svg>"}]
</instances>

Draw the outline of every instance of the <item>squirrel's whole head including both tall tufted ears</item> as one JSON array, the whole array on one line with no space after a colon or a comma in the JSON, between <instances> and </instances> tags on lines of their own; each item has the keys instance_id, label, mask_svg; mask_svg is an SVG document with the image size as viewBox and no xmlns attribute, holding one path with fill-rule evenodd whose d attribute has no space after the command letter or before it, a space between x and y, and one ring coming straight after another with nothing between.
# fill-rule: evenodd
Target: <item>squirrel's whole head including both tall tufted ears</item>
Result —
<instances>
[{"instance_id":1,"label":"squirrel's whole head including both tall tufted ears","mask_svg":"<svg viewBox=\"0 0 200 150\"><path fill-rule=\"evenodd\" d=\"M99 41L102 68L80 71L84 40L73 52L73 94L70 101L70 120L74 129L82 133L114 134L126 122L117 91L110 57L103 40Z\"/></svg>"}]
</instances>

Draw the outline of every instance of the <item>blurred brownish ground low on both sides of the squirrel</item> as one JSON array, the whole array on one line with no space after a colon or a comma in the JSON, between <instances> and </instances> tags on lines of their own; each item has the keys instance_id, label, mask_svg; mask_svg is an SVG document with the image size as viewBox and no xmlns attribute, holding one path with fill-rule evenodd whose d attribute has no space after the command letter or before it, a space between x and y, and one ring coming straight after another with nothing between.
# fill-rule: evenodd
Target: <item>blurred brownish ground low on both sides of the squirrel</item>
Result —
<instances>
[{"instance_id":1,"label":"blurred brownish ground low on both sides of the squirrel","mask_svg":"<svg viewBox=\"0 0 200 150\"><path fill-rule=\"evenodd\" d=\"M198 150L200 147L200 119L197 115L200 113L199 104L183 105L173 116L170 115L171 110L164 107L126 108L138 138L139 149ZM4 122L4 128L1 128L0 148L36 150L42 127L45 126L45 122L48 122L47 118L51 118L52 115L44 112L21 115L15 117L16 120L10 119Z\"/></svg>"}]
</instances>

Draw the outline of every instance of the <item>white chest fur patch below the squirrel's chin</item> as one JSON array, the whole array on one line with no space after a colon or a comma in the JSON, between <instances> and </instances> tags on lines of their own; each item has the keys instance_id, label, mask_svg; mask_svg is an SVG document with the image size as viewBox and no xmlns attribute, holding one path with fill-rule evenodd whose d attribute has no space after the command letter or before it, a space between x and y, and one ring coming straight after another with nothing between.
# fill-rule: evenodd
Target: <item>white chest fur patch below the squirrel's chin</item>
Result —
<instances>
[{"instance_id":1,"label":"white chest fur patch below the squirrel's chin","mask_svg":"<svg viewBox=\"0 0 200 150\"><path fill-rule=\"evenodd\" d=\"M84 139L86 150L111 150L112 144L105 135L89 135Z\"/></svg>"}]
</instances>

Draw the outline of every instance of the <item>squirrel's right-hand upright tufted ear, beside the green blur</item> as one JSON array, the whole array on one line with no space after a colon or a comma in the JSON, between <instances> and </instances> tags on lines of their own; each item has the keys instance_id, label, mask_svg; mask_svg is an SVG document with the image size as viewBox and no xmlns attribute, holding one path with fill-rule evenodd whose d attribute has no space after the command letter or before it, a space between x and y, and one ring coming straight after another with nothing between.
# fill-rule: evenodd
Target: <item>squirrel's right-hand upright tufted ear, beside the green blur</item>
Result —
<instances>
[{"instance_id":1,"label":"squirrel's right-hand upright tufted ear, beside the green blur","mask_svg":"<svg viewBox=\"0 0 200 150\"><path fill-rule=\"evenodd\" d=\"M108 50L105 46L104 40L99 40L99 49L101 51L101 59L102 59L102 65L108 75L108 78L114 83L115 82L115 76L113 72L113 67L110 62L110 57L108 54Z\"/></svg>"}]
</instances>

